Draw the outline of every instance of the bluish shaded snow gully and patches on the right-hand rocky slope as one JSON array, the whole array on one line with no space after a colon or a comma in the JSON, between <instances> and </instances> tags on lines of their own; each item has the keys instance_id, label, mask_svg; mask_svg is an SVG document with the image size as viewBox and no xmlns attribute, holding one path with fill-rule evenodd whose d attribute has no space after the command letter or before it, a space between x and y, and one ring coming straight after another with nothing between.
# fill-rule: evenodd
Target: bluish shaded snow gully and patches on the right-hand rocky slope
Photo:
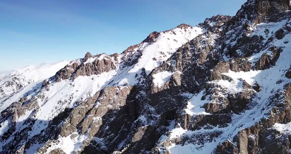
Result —
<instances>
[{"instance_id":1,"label":"bluish shaded snow gully and patches on the right-hand rocky slope","mask_svg":"<svg viewBox=\"0 0 291 154\"><path fill-rule=\"evenodd\" d=\"M254 25L253 31L250 35L265 35L264 33L257 33L257 31L264 31L268 26L261 25L271 25L271 32L275 33L278 31L282 25L285 25L288 21L284 20L279 23L261 23L259 25ZM275 25L275 26L274 26ZM276 27L275 29L273 29ZM268 113L272 109L270 106L270 102L274 99L273 95L276 92L284 91L284 86L288 83L291 83L291 78L285 77L286 71L290 69L291 66L291 44L284 43L286 40L291 40L291 34L288 34L284 37L284 39L276 39L274 42L269 44L270 46L280 46L283 48L283 51L280 53L280 57L276 62L276 66L266 69L266 70L258 70L258 71L248 71L248 72L233 72L231 70L228 73L223 73L223 75L230 77L229 80L215 80L210 83L214 83L219 87L219 91L223 91L219 93L220 97L227 99L228 94L239 93L245 91L246 89L243 87L243 82L246 81L249 85L254 86L255 84L260 85L260 91L256 92L254 89L252 91L255 93L255 97L252 98L252 105L250 109L238 114L231 116L231 123L229 123L226 127L213 127L212 129L200 129L200 130L184 130L181 127L177 127L175 129L170 130L169 139L173 139L172 136L177 138L187 138L193 136L204 136L206 134L215 134L218 133L216 139L210 140L209 136L204 137L204 142L193 142L193 143L185 143L184 145L176 145L172 143L169 147L167 147L168 151L171 154L182 154L182 153L199 153L199 154L210 154L212 153L218 146L219 143L222 143L225 140L232 140L243 128L248 128L255 123L259 122L262 118L268 118ZM248 59L250 61L256 59L259 60L259 57L263 55L263 53L271 54L269 50L262 50L254 55L250 56ZM258 56L259 55L259 56ZM248 92L250 93L250 92ZM201 91L199 94L190 98L187 108L185 109L185 113L187 115L211 115L212 113L206 113L205 109L202 107L206 105L206 103L211 102L211 100L201 100L201 97L205 95L205 91ZM242 95L242 94L241 94ZM252 97L252 96L251 96ZM278 104L283 103L284 100L278 100ZM223 102L214 102L220 105L223 105ZM290 123L280 124L275 123L273 126L274 129L289 134ZM166 141L167 138L164 138ZM195 137L196 138L196 137Z\"/></svg>"}]
</instances>

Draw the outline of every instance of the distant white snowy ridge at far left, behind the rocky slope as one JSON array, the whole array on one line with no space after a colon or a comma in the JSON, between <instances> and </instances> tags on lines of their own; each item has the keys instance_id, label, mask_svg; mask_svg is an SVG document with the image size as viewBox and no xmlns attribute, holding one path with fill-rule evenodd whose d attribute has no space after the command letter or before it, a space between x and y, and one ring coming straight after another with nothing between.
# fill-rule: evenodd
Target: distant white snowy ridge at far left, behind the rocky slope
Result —
<instances>
[{"instance_id":1,"label":"distant white snowy ridge at far left, behind the rocky slope","mask_svg":"<svg viewBox=\"0 0 291 154\"><path fill-rule=\"evenodd\" d=\"M69 61L40 64L2 74L0 76L0 112L11 103L24 97L29 91L41 87L44 79L54 76L57 71L67 64L69 64Z\"/></svg>"}]
</instances>

